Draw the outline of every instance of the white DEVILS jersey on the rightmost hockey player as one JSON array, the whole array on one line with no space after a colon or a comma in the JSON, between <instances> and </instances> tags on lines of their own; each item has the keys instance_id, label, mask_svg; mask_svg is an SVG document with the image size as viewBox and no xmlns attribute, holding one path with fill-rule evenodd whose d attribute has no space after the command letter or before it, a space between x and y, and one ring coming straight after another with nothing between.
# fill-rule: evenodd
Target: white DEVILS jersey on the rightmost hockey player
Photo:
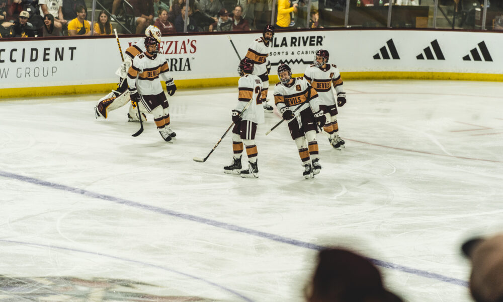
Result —
<instances>
[{"instance_id":1,"label":"white DEVILS jersey on the rightmost hockey player","mask_svg":"<svg viewBox=\"0 0 503 302\"><path fill-rule=\"evenodd\" d=\"M336 65L325 64L325 68L316 67L314 64L306 67L304 78L318 93L313 109L318 111L319 105L334 105L336 98L333 96L332 85L337 93L343 92L343 80Z\"/></svg>"}]
</instances>

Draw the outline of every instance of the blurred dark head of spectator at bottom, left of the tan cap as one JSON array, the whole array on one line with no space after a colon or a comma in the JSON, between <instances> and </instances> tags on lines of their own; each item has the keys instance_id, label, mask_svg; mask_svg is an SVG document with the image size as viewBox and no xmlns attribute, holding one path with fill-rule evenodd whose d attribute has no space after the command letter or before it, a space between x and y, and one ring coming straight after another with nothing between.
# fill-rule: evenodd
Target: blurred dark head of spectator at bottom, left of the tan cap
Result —
<instances>
[{"instance_id":1,"label":"blurred dark head of spectator at bottom, left of the tan cap","mask_svg":"<svg viewBox=\"0 0 503 302\"><path fill-rule=\"evenodd\" d=\"M367 258L353 252L327 248L318 253L318 264L306 290L307 302L401 302L386 290L381 273Z\"/></svg>"}]
</instances>

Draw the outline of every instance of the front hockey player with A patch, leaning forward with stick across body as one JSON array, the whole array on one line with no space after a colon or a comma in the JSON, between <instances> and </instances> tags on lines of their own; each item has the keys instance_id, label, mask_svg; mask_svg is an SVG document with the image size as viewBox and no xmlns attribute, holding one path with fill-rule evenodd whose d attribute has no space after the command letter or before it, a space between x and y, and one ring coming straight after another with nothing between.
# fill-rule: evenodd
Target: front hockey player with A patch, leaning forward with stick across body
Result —
<instances>
[{"instance_id":1,"label":"front hockey player with A patch, leaning forward with stick across body","mask_svg":"<svg viewBox=\"0 0 503 302\"><path fill-rule=\"evenodd\" d=\"M321 110L313 114L313 99L316 91L306 79L292 78L292 70L286 64L278 67L280 82L274 87L274 102L283 118L288 122L290 135L299 149L304 166L304 177L313 178L321 170L316 142L317 124L325 124ZM295 113L294 113L295 112Z\"/></svg>"}]
</instances>

